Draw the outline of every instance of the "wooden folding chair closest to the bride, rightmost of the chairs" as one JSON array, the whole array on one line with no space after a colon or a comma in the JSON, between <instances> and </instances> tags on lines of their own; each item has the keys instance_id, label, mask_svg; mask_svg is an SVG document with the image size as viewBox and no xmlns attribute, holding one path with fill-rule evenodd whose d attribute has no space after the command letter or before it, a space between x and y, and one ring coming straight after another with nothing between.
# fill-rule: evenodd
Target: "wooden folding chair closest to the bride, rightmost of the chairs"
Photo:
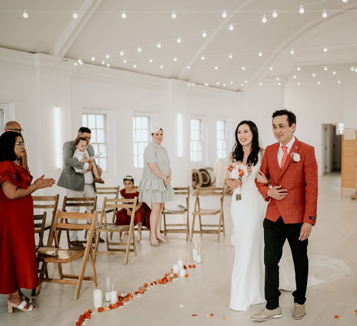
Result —
<instances>
[{"instance_id":1,"label":"wooden folding chair closest to the bride, rightmost of the chairs","mask_svg":"<svg viewBox=\"0 0 357 326\"><path fill-rule=\"evenodd\" d=\"M196 199L194 202L194 209L192 212L192 228L191 228L191 240L194 233L208 233L208 234L216 234L217 241L219 241L219 235L223 232L223 236L225 236L225 229L224 229L224 216L223 216L223 200L224 200L224 193L225 189L222 188L214 188L214 187L197 187L196 189ZM203 209L200 206L200 197L202 196L219 196L220 197L220 207L215 209ZM219 214L219 222L218 224L202 224L201 217L202 216L213 216ZM194 230L194 220L195 217L198 215L199 217L199 230ZM203 229L203 227L214 227L217 229Z\"/></svg>"}]
</instances>

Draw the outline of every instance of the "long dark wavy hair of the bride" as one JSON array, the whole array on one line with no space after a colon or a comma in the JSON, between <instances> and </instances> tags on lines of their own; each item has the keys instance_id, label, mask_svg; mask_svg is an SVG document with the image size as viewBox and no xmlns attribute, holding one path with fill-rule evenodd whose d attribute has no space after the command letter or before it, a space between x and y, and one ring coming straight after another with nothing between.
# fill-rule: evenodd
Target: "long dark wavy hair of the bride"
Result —
<instances>
[{"instance_id":1,"label":"long dark wavy hair of the bride","mask_svg":"<svg viewBox=\"0 0 357 326\"><path fill-rule=\"evenodd\" d=\"M253 121L249 121L249 120L243 120L241 122L239 122L237 129L234 133L234 136L236 138L236 144L233 146L232 149L232 158L235 159L236 161L243 161L243 146L239 143L238 140L238 128L241 125L248 125L250 131L252 131L253 133L253 139L252 139L252 148L250 150L250 154L248 156L247 159L247 163L251 164L251 165L255 165L258 163L258 155L259 155L259 151L261 150L260 146L259 146L259 134L258 134L258 128L256 126L256 124Z\"/></svg>"}]
</instances>

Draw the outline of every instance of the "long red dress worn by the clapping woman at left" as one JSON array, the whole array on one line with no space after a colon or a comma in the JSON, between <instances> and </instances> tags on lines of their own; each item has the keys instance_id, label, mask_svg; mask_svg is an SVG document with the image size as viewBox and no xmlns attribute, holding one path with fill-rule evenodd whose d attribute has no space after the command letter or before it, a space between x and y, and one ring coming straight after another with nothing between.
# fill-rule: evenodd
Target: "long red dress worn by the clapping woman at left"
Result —
<instances>
[{"instance_id":1,"label":"long red dress worn by the clapping woman at left","mask_svg":"<svg viewBox=\"0 0 357 326\"><path fill-rule=\"evenodd\" d=\"M32 176L23 167L3 161L0 185L6 180L27 189ZM0 187L0 293L38 285L32 196L9 199Z\"/></svg>"}]
</instances>

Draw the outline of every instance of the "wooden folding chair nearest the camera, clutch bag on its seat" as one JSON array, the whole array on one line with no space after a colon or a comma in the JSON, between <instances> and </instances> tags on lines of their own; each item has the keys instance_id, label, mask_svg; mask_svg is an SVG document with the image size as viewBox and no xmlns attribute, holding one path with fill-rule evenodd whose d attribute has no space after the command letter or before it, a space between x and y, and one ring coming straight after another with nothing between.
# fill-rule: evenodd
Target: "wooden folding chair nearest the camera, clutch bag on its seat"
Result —
<instances>
[{"instance_id":1,"label":"wooden folding chair nearest the camera, clutch bag on its seat","mask_svg":"<svg viewBox=\"0 0 357 326\"><path fill-rule=\"evenodd\" d=\"M96 281L96 272L95 272L95 257L92 247L92 238L95 232L95 223L97 219L97 212L94 213L67 213L57 211L56 216L54 218L53 224L51 226L50 235L48 239L47 246L50 247L53 244L58 249L57 256L38 256L37 260L42 261L42 268L39 276L40 285L36 289L36 294L39 294L41 291L41 286L43 282L48 283L59 283L59 284L72 284L76 285L76 290L74 294L74 300L79 298L79 294L82 287L82 281L93 281L94 286L97 286ZM68 219L78 219L78 220L89 220L90 224L75 224L68 223ZM65 221L65 222L64 222ZM60 230L80 230L80 229L89 230L87 245L82 250L71 250L71 249L60 249L59 248L59 239L57 232ZM89 255L91 255L91 266L93 276L84 276L84 272L86 270L87 261L89 259ZM71 261L75 261L78 259L82 259L82 266L78 275L72 274L63 274L62 272L62 264L69 263ZM45 271L47 269L47 264L49 262L57 263L59 270L59 279L48 278L45 277Z\"/></svg>"}]
</instances>

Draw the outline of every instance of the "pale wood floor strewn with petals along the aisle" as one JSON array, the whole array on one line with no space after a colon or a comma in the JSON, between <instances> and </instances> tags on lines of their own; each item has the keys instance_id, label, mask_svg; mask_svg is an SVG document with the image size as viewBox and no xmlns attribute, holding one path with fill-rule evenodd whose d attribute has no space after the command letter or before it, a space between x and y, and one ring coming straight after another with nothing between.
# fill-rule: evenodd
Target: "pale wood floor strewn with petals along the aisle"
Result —
<instances>
[{"instance_id":1,"label":"pale wood floor strewn with petals along the aisle","mask_svg":"<svg viewBox=\"0 0 357 326\"><path fill-rule=\"evenodd\" d=\"M357 201L340 198L339 174L328 174L319 181L318 219L309 239L309 254L326 255L345 261L354 271L336 283L320 286L307 293L307 317L293 320L291 292L283 291L280 305L283 316L263 322L264 325L357 325ZM226 237L216 242L214 235L194 236L203 247L203 263L191 271L188 279L167 286L159 285L122 309L96 313L90 325L257 325L250 320L264 304L237 312L228 307L234 248L229 245L230 200L225 198ZM193 204L193 200L192 200ZM98 256L96 261L99 288L102 278L113 275L120 290L134 292L138 286L162 277L184 256L189 263L192 242L184 235L169 235L170 243L159 248L149 245L148 233L138 245L138 257L130 256L128 265L123 257ZM64 272L77 271L79 264L66 267ZM87 268L89 272L90 269ZM49 273L56 273L52 267ZM93 283L83 282L80 298L73 301L74 286L44 283L38 297L39 310L7 313L6 296L0 296L0 325L74 325L77 317L93 308ZM24 290L25 293L29 293ZM180 304L184 307L180 308ZM207 314L213 313L211 319ZM192 317L197 314L197 317ZM333 318L339 315L339 319ZM223 319L222 317L226 317Z\"/></svg>"}]
</instances>

